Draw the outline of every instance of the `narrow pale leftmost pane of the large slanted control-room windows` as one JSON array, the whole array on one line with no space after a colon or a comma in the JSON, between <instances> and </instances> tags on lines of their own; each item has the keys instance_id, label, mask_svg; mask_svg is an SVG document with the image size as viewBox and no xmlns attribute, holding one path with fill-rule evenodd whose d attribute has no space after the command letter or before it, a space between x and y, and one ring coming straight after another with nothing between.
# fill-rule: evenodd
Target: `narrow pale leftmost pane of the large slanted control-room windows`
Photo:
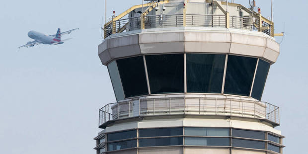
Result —
<instances>
[{"instance_id":1,"label":"narrow pale leftmost pane of the large slanted control-room windows","mask_svg":"<svg viewBox=\"0 0 308 154\"><path fill-rule=\"evenodd\" d=\"M116 61L113 61L108 66L109 75L111 78L114 93L117 101L124 99L124 91L121 83L121 78Z\"/></svg>"}]
</instances>

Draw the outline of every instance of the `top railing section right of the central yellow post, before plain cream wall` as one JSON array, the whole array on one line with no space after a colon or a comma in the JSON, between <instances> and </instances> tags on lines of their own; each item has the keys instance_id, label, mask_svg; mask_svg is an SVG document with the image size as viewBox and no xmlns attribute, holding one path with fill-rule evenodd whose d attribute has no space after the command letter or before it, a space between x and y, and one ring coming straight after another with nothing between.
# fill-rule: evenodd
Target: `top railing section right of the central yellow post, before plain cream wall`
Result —
<instances>
[{"instance_id":1,"label":"top railing section right of the central yellow post, before plain cream wall","mask_svg":"<svg viewBox=\"0 0 308 154\"><path fill-rule=\"evenodd\" d=\"M226 27L226 15L186 14L186 26Z\"/></svg>"}]
</instances>

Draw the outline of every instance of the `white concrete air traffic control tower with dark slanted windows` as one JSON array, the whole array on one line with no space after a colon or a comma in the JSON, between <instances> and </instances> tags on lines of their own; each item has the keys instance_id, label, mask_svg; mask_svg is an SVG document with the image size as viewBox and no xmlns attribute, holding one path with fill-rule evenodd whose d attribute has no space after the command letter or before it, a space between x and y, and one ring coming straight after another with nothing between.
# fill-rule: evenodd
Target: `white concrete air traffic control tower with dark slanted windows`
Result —
<instances>
[{"instance_id":1,"label":"white concrete air traffic control tower with dark slanted windows","mask_svg":"<svg viewBox=\"0 0 308 154\"><path fill-rule=\"evenodd\" d=\"M279 107L261 99L280 46L253 7L155 0L114 15L98 54L117 102L99 109L97 154L282 154Z\"/></svg>"}]
</instances>

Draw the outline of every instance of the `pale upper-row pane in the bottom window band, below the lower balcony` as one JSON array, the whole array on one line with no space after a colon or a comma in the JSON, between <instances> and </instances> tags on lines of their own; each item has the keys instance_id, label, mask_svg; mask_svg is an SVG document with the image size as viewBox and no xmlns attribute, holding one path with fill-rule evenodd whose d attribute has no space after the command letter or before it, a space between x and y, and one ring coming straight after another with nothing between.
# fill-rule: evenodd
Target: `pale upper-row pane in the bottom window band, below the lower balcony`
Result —
<instances>
[{"instance_id":1,"label":"pale upper-row pane in the bottom window band, below the lower balcony","mask_svg":"<svg viewBox=\"0 0 308 154\"><path fill-rule=\"evenodd\" d=\"M186 136L230 136L228 128L193 128L185 127Z\"/></svg>"}]
</instances>

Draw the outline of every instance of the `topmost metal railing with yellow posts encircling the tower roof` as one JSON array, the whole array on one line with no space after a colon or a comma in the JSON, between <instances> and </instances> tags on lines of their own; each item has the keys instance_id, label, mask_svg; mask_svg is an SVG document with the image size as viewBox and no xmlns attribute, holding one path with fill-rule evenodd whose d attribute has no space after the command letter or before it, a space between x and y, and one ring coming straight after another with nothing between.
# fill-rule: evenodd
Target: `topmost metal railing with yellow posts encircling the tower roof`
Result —
<instances>
[{"instance_id":1,"label":"topmost metal railing with yellow posts encircling the tower roof","mask_svg":"<svg viewBox=\"0 0 308 154\"><path fill-rule=\"evenodd\" d=\"M229 24L227 24L228 22ZM143 28L183 27L184 25L186 27L236 28L259 31L267 35L274 36L273 23L260 16L260 14L257 14L254 17L229 16L228 18L227 15L212 14L161 14L146 15L144 16L144 20L142 20L141 17L131 17L114 20L110 24L105 25L104 36L106 38L111 34Z\"/></svg>"}]
</instances>

